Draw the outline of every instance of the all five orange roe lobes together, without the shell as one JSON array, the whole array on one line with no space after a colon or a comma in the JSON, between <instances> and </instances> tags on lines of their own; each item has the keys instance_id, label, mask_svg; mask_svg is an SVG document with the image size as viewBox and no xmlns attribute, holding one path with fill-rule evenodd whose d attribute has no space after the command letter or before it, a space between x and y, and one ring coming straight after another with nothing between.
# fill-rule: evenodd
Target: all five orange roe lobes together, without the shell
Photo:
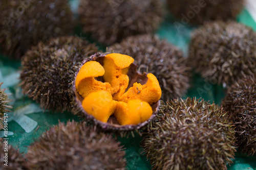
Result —
<instances>
[{"instance_id":1,"label":"all five orange roe lobes together, without the shell","mask_svg":"<svg viewBox=\"0 0 256 170\"><path fill-rule=\"evenodd\" d=\"M96 61L85 63L79 70L75 84L82 96L82 107L101 122L108 122L114 114L120 125L137 125L153 114L151 105L161 98L161 88L153 74L147 75L144 85L134 83L129 88L127 72L134 59L122 54L108 54L103 66ZM95 80L103 76L104 83Z\"/></svg>"}]
</instances>

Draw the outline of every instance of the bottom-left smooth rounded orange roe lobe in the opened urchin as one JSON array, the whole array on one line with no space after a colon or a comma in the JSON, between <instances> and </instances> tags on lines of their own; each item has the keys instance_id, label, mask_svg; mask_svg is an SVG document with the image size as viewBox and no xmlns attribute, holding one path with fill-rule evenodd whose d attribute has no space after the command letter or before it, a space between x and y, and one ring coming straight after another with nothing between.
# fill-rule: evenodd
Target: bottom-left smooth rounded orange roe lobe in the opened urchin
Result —
<instances>
[{"instance_id":1,"label":"bottom-left smooth rounded orange roe lobe in the opened urchin","mask_svg":"<svg viewBox=\"0 0 256 170\"><path fill-rule=\"evenodd\" d=\"M109 117L114 113L116 103L116 101L113 101L110 92L100 90L90 93L82 101L82 107L97 120L106 123Z\"/></svg>"}]
</instances>

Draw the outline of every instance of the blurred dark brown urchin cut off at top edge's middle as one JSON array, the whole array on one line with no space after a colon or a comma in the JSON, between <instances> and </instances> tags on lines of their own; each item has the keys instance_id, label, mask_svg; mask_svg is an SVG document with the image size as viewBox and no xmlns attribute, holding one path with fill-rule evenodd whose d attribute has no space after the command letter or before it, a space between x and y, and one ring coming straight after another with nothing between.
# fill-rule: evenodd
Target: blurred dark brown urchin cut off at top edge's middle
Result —
<instances>
[{"instance_id":1,"label":"blurred dark brown urchin cut off at top edge's middle","mask_svg":"<svg viewBox=\"0 0 256 170\"><path fill-rule=\"evenodd\" d=\"M153 33L162 21L162 11L159 0L82 0L78 9L83 31L106 45Z\"/></svg>"}]
</instances>

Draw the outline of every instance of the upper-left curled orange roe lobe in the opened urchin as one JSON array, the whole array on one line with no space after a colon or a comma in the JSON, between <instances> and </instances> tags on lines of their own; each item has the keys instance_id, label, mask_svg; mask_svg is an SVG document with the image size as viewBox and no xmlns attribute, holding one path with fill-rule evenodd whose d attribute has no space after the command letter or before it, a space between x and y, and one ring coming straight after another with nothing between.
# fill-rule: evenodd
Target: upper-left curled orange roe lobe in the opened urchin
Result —
<instances>
[{"instance_id":1,"label":"upper-left curled orange roe lobe in the opened urchin","mask_svg":"<svg viewBox=\"0 0 256 170\"><path fill-rule=\"evenodd\" d=\"M97 61L89 61L82 65L76 77L77 92L86 98L91 92L105 90L112 93L112 87L109 83L102 83L94 77L103 76L104 68Z\"/></svg>"}]
</instances>

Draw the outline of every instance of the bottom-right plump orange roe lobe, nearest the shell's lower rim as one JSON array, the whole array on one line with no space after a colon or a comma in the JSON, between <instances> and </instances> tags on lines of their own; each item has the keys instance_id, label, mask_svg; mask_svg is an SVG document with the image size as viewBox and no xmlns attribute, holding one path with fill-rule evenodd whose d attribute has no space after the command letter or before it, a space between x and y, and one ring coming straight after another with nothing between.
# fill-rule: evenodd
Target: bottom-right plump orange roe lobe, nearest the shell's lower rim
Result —
<instances>
[{"instance_id":1,"label":"bottom-right plump orange roe lobe, nearest the shell's lower rim","mask_svg":"<svg viewBox=\"0 0 256 170\"><path fill-rule=\"evenodd\" d=\"M114 115L120 125L137 125L145 122L152 113L150 104L135 99L128 103L117 102Z\"/></svg>"}]
</instances>

